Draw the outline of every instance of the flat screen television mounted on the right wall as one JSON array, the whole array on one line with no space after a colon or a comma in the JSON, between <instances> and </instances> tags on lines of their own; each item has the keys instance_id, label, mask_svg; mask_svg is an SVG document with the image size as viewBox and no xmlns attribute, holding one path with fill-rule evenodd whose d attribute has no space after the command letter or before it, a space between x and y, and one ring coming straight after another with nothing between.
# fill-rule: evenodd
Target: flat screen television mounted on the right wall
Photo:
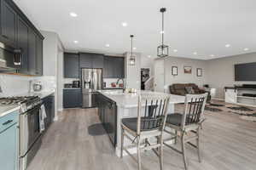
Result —
<instances>
[{"instance_id":1,"label":"flat screen television mounted on the right wall","mask_svg":"<svg viewBox=\"0 0 256 170\"><path fill-rule=\"evenodd\" d=\"M236 81L256 81L256 62L235 65Z\"/></svg>"}]
</instances>

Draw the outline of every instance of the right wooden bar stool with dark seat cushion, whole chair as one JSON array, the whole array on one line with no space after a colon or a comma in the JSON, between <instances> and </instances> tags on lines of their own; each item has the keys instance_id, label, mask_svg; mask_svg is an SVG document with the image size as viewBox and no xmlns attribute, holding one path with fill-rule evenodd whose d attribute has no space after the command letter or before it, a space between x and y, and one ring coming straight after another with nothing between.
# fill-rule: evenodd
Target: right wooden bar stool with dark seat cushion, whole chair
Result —
<instances>
[{"instance_id":1,"label":"right wooden bar stool with dark seat cushion, whole chair","mask_svg":"<svg viewBox=\"0 0 256 170\"><path fill-rule=\"evenodd\" d=\"M185 144L188 143L197 149L198 159L201 162L199 139L201 122L205 120L203 113L205 110L206 101L207 94L187 94L183 114L173 113L167 115L166 127L174 129L174 133L172 130L169 130L170 128L166 128L165 132L172 135L172 139L175 139L175 144L177 142L177 137L180 137L182 150L177 150L165 142L164 144L183 155L184 167L186 170L188 169L188 165L186 161ZM195 135L188 136L188 133L193 133ZM196 145L192 144L190 142L191 140L196 140Z\"/></svg>"}]
</instances>

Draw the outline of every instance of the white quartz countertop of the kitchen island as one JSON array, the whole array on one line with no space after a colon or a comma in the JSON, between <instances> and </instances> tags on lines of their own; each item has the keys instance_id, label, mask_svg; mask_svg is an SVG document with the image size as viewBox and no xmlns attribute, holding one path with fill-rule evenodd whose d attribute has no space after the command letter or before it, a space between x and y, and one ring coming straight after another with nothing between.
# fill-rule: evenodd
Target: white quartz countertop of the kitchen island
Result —
<instances>
[{"instance_id":1,"label":"white quartz countertop of the kitchen island","mask_svg":"<svg viewBox=\"0 0 256 170\"><path fill-rule=\"evenodd\" d=\"M137 99L139 94L161 94L151 91L141 91L136 94L124 94L122 90L109 91L109 90L98 90L99 93L105 95L109 99L116 102L116 105L125 108L137 107ZM180 95L170 94L170 104L184 103L185 97Z\"/></svg>"}]
</instances>

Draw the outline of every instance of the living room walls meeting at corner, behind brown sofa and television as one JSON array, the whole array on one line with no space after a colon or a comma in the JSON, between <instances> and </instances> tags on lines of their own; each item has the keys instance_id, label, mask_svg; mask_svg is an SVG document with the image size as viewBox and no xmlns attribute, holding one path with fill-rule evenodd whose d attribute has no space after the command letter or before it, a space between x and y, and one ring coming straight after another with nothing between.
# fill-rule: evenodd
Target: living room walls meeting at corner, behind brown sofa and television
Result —
<instances>
[{"instance_id":1,"label":"living room walls meeting at corner, behind brown sofa and television","mask_svg":"<svg viewBox=\"0 0 256 170\"><path fill-rule=\"evenodd\" d=\"M164 60L166 85L193 82L201 87L203 84L209 84L211 88L216 88L217 99L224 99L224 87L234 84L256 84L256 82L235 82L234 70L236 64L256 62L256 53L209 60L179 57L167 57ZM192 66L191 75L183 73L184 65ZM172 76L172 66L178 67L177 77ZM196 68L202 68L202 77L196 76Z\"/></svg>"}]
</instances>

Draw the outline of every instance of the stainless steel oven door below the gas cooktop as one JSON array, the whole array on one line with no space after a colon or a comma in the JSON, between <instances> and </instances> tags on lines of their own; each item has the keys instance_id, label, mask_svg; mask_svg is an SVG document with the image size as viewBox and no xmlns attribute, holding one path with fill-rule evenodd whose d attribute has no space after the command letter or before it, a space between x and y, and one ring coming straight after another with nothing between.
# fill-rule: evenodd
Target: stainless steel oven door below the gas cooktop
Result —
<instances>
[{"instance_id":1,"label":"stainless steel oven door below the gas cooktop","mask_svg":"<svg viewBox=\"0 0 256 170\"><path fill-rule=\"evenodd\" d=\"M35 141L40 137L39 111L37 105L20 115L20 156L25 156Z\"/></svg>"}]
</instances>

